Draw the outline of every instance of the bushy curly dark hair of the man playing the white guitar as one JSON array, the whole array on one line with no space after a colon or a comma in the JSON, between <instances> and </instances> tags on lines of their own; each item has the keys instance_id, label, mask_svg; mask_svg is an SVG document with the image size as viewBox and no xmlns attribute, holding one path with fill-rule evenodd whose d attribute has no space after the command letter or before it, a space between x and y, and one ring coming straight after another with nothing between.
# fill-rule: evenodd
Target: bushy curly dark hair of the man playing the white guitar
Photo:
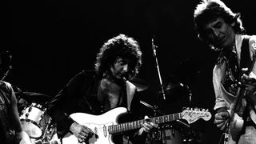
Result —
<instances>
[{"instance_id":1,"label":"bushy curly dark hair of the man playing the white guitar","mask_svg":"<svg viewBox=\"0 0 256 144\"><path fill-rule=\"evenodd\" d=\"M133 78L138 74L138 70L142 66L142 51L134 38L119 34L105 42L97 54L95 70L101 76L108 73L110 66L113 66L117 58L130 59L131 69L126 79Z\"/></svg>"}]
</instances>

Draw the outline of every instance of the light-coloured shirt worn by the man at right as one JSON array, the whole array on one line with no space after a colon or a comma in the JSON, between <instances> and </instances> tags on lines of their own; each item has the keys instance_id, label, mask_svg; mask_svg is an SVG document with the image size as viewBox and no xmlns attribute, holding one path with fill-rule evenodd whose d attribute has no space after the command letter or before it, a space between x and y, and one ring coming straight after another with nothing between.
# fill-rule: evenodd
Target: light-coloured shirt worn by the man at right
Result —
<instances>
[{"instance_id":1,"label":"light-coloured shirt worn by the man at right","mask_svg":"<svg viewBox=\"0 0 256 144\"><path fill-rule=\"evenodd\" d=\"M241 60L241 47L242 47L242 40L243 38L248 37L248 35L242 35L242 34L236 34L235 36L235 46L233 52L236 53L237 59L238 59L238 65L240 65ZM254 48L256 46L256 36L251 36L249 41L249 50L250 50L250 58L253 58L254 54ZM215 93L215 106L214 110L217 110L221 107L226 107L227 109L230 109L232 106L232 103L234 102L234 94L228 92L224 86L224 79L226 77L226 69L228 66L227 58L225 58L224 54L221 54L218 58L218 62L214 66L213 70L213 84L214 84L214 93ZM256 74L256 65L254 65L254 68L252 70L253 74ZM251 75L251 74L250 74ZM250 111L251 115L255 115L253 110ZM255 117L256 118L256 117ZM256 123L256 119L254 119L254 122Z\"/></svg>"}]
</instances>

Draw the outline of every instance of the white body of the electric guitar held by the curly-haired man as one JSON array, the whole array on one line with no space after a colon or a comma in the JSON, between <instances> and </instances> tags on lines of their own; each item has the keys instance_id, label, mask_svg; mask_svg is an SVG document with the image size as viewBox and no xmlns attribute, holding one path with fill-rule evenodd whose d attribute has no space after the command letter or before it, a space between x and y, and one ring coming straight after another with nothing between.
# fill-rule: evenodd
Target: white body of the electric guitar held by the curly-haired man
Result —
<instances>
[{"instance_id":1,"label":"white body of the electric guitar held by the curly-haired man","mask_svg":"<svg viewBox=\"0 0 256 144\"><path fill-rule=\"evenodd\" d=\"M126 108L118 107L102 115L74 113L70 115L70 118L94 131L94 136L89 139L88 144L114 144L107 128L117 124L119 116L126 114L126 112ZM74 134L68 133L62 138L62 143L77 144L78 138Z\"/></svg>"}]
</instances>

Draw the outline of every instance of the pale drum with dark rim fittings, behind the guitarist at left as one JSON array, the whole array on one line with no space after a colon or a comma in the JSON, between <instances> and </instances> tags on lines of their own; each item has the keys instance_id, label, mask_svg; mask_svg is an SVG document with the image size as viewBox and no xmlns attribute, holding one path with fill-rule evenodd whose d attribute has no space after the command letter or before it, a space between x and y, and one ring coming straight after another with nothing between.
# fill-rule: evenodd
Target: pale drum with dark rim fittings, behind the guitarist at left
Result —
<instances>
[{"instance_id":1,"label":"pale drum with dark rim fittings, behind the guitarist at left","mask_svg":"<svg viewBox=\"0 0 256 144\"><path fill-rule=\"evenodd\" d=\"M39 138L42 136L42 128L39 123L45 114L45 108L37 103L32 103L30 106L22 110L20 116L22 130L30 136L30 138Z\"/></svg>"}]
</instances>

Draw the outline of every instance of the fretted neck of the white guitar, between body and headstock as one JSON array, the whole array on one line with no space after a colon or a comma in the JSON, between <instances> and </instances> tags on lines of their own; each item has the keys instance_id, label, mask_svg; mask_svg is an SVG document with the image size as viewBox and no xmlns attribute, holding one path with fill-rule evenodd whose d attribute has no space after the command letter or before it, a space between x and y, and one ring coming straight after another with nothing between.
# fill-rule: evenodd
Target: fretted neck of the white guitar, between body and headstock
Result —
<instances>
[{"instance_id":1,"label":"fretted neck of the white guitar, between body and headstock","mask_svg":"<svg viewBox=\"0 0 256 144\"><path fill-rule=\"evenodd\" d=\"M154 118L149 118L149 119L141 119L141 120L134 121L134 122L125 122L122 124L109 126L108 130L109 130L110 134L118 134L118 133L125 132L128 130L139 129L142 127L142 123L144 123L144 122L149 121L149 122L154 122L156 124L161 124L161 123L171 122L171 121L181 119L181 118L182 118L181 113L168 114L168 115L163 115L163 116L159 116L159 117L154 117Z\"/></svg>"}]
</instances>

